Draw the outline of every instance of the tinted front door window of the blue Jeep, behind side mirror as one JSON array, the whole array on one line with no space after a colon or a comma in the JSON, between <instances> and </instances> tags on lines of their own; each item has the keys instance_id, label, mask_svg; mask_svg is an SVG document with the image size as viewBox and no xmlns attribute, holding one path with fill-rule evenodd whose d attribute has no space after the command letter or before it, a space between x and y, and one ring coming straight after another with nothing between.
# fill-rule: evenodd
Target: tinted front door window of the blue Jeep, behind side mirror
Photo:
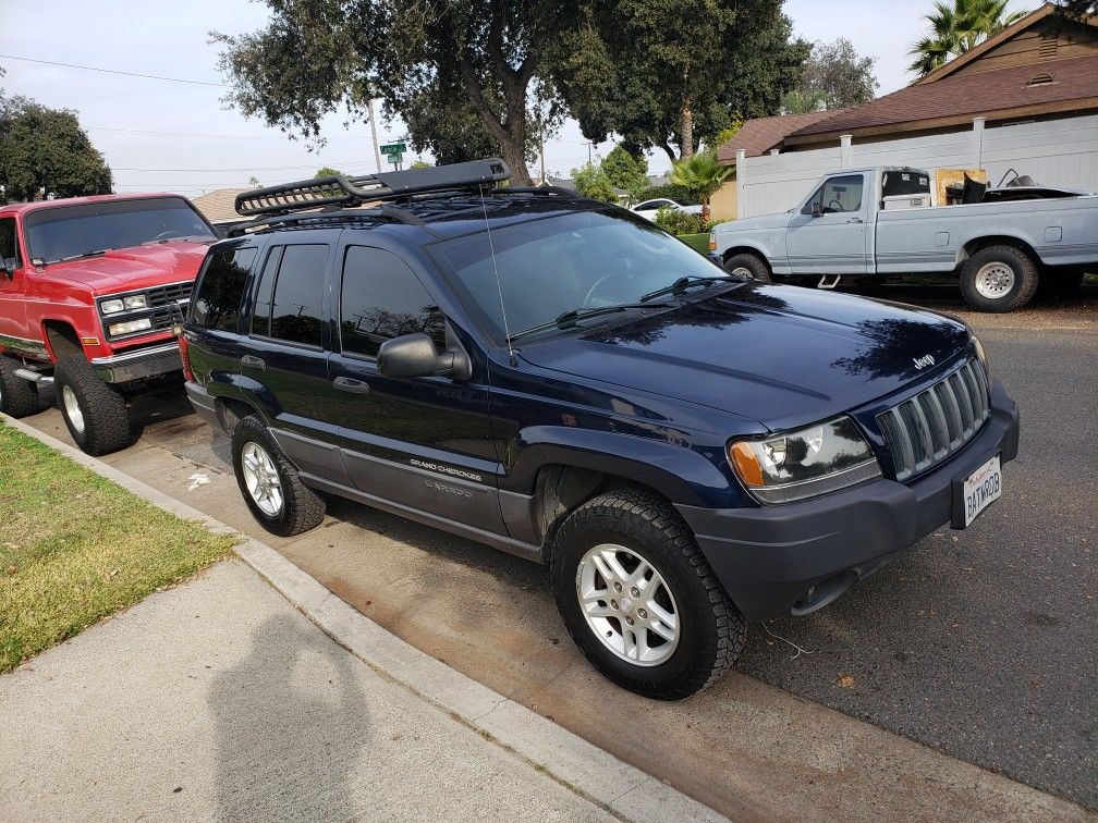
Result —
<instances>
[{"instance_id":1,"label":"tinted front door window of the blue Jeep, behind side mirror","mask_svg":"<svg viewBox=\"0 0 1098 823\"><path fill-rule=\"evenodd\" d=\"M344 351L377 357L385 340L417 331L441 347L444 328L441 311L403 260L365 246L347 249L339 301Z\"/></svg>"}]
</instances>

